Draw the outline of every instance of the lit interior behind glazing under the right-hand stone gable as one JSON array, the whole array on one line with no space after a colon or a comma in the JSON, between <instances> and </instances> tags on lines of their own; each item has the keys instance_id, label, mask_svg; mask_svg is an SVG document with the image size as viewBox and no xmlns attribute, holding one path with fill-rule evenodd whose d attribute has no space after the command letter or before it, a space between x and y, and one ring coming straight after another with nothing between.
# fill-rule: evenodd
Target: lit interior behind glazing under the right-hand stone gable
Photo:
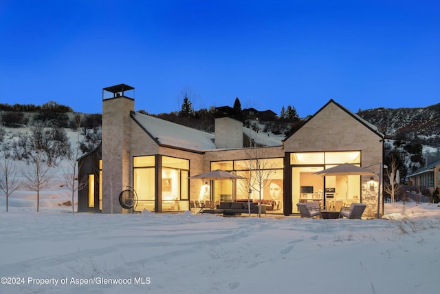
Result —
<instances>
[{"instance_id":1,"label":"lit interior behind glazing under the right-hand stone gable","mask_svg":"<svg viewBox=\"0 0 440 294\"><path fill-rule=\"evenodd\" d=\"M325 176L315 174L342 163L360 166L360 151L308 152L290 155L292 165L292 207L296 203L319 202L322 208L340 210L360 202L361 177Z\"/></svg>"}]
</instances>

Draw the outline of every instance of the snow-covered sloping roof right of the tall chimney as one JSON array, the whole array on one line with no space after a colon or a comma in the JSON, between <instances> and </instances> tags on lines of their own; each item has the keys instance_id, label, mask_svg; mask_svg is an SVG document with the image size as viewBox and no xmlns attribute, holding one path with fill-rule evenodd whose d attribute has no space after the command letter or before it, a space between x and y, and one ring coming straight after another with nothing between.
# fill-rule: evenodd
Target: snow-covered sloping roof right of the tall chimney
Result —
<instances>
[{"instance_id":1,"label":"snow-covered sloping roof right of the tall chimney","mask_svg":"<svg viewBox=\"0 0 440 294\"><path fill-rule=\"evenodd\" d=\"M208 151L216 149L214 134L192 129L184 125L172 123L146 114L135 112L133 118L146 131L163 145L190 149L195 151Z\"/></svg>"}]
</instances>

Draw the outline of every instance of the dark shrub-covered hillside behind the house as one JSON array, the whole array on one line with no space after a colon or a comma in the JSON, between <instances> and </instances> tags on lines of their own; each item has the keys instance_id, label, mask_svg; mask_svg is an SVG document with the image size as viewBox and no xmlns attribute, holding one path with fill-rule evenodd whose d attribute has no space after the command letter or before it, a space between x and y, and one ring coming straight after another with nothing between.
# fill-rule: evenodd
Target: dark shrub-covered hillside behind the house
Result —
<instances>
[{"instance_id":1,"label":"dark shrub-covered hillside behind the house","mask_svg":"<svg viewBox=\"0 0 440 294\"><path fill-rule=\"evenodd\" d=\"M15 133L27 133L29 128L35 125L76 130L76 114L67 106L57 103L46 103L45 107L35 105L0 105L0 139L14 138L19 141ZM26 106L26 107L23 107ZM32 107L31 107L32 106ZM57 112L57 110L62 112ZM205 132L214 132L214 117L218 113L211 107L207 112L196 112L197 116L184 117L172 112L170 114L151 114L173 123L194 127ZM142 111L141 111L142 112ZM404 158L404 165L408 171L422 167L426 156L435 156L440 150L440 103L428 107L418 108L376 108L363 110L357 113L359 116L376 125L382 134L386 135L386 154L392 150L398 150L399 156ZM273 118L270 121L245 120L244 125L250 127L254 135L265 138L277 138L282 140L295 129L305 123L307 118L289 121L286 119ZM81 121L81 150L87 152L99 144L101 114L83 114ZM13 130L14 129L14 130ZM8 130L8 132L5 132ZM9 134L8 134L9 133ZM248 134L245 134L244 142L249 142ZM255 142L256 143L256 142ZM260 145L256 143L256 145ZM265 145L261 142L261 145ZM12 146L10 146L12 148ZM417 153L408 150L419 149ZM14 149L17 151L17 149ZM406 174L401 171L401 174Z\"/></svg>"}]
</instances>

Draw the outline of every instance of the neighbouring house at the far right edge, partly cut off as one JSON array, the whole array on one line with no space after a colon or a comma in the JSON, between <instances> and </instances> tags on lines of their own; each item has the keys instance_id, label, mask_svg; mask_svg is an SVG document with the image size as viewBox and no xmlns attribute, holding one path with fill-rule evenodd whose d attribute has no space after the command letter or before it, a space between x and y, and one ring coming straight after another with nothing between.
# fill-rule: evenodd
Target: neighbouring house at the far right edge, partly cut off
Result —
<instances>
[{"instance_id":1,"label":"neighbouring house at the far right edge, partly cut off","mask_svg":"<svg viewBox=\"0 0 440 294\"><path fill-rule=\"evenodd\" d=\"M412 185L428 189L430 193L440 187L440 159L426 161L426 165L408 176Z\"/></svg>"}]
</instances>

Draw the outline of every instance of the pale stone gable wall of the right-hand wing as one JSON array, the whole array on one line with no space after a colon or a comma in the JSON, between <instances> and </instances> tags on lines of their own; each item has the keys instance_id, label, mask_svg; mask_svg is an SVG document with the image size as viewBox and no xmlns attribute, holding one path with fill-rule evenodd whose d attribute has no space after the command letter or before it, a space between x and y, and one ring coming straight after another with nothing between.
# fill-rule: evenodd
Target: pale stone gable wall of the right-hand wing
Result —
<instances>
[{"instance_id":1,"label":"pale stone gable wall of the right-hand wing","mask_svg":"<svg viewBox=\"0 0 440 294\"><path fill-rule=\"evenodd\" d=\"M378 162L382 162L383 157L382 136L375 129L370 129L368 123L363 123L361 118L333 101L322 107L303 127L287 138L284 147L286 153L360 150L361 166L369 167L377 173ZM366 185L370 178L371 176L362 176L362 185ZM373 178L375 181L379 180L379 176ZM373 195L362 194L362 203L367 205L364 216L373 217L377 213L377 192L376 190Z\"/></svg>"}]
</instances>

